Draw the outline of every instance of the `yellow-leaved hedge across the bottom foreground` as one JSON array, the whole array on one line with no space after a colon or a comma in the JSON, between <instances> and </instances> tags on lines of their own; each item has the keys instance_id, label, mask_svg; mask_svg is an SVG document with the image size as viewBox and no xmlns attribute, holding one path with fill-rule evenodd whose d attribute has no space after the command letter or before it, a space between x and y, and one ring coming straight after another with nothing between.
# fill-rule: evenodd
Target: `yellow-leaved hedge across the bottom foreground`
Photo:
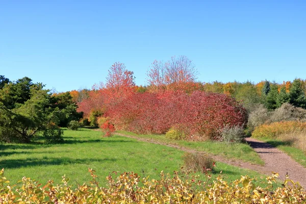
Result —
<instances>
[{"instance_id":1,"label":"yellow-leaved hedge across the bottom foreground","mask_svg":"<svg viewBox=\"0 0 306 204\"><path fill-rule=\"evenodd\" d=\"M90 185L71 189L68 179L63 176L63 184L54 185L49 181L45 186L30 178L23 177L21 187L10 185L0 172L1 203L301 203L306 201L306 192L293 181L285 181L283 187L271 191L270 187L260 188L249 176L227 183L218 177L211 185L196 180L197 176L185 176L174 172L160 180L140 179L137 173L125 172L113 179L107 177L108 188L99 187L94 170ZM277 173L267 177L267 183L275 182Z\"/></svg>"}]
</instances>

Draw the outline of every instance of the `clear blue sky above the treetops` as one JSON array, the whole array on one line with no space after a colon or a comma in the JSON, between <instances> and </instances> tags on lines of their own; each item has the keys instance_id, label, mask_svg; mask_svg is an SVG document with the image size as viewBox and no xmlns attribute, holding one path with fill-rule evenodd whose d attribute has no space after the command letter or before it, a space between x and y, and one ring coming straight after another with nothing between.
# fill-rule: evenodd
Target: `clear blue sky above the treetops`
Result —
<instances>
[{"instance_id":1,"label":"clear blue sky above the treetops","mask_svg":"<svg viewBox=\"0 0 306 204\"><path fill-rule=\"evenodd\" d=\"M58 91L105 81L116 61L144 85L186 55L198 80L306 79L306 1L0 0L0 74Z\"/></svg>"}]
</instances>

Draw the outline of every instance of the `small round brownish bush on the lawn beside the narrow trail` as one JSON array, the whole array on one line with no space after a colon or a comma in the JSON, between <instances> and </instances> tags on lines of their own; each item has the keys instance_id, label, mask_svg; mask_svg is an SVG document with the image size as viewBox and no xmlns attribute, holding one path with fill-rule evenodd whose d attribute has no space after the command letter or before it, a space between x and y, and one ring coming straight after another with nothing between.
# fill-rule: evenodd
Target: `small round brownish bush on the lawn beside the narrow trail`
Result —
<instances>
[{"instance_id":1,"label":"small round brownish bush on the lawn beside the narrow trail","mask_svg":"<svg viewBox=\"0 0 306 204\"><path fill-rule=\"evenodd\" d=\"M207 170L213 170L215 162L213 158L201 154L186 152L183 155L184 167L188 170L206 172Z\"/></svg>"}]
</instances>

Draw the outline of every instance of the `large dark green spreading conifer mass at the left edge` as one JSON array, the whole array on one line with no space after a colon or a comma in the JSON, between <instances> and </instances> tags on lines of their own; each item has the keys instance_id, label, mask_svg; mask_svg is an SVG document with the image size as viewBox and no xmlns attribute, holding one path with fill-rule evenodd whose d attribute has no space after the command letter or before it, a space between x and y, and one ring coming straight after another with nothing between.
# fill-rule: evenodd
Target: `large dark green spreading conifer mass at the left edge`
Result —
<instances>
[{"instance_id":1,"label":"large dark green spreading conifer mass at the left edge","mask_svg":"<svg viewBox=\"0 0 306 204\"><path fill-rule=\"evenodd\" d=\"M69 119L75 119L73 114L77 115L77 105L70 94L52 96L43 89L44 85L34 84L28 77L3 81L6 83L0 89L0 141L30 142L38 135L61 140L59 124L67 124Z\"/></svg>"}]
</instances>

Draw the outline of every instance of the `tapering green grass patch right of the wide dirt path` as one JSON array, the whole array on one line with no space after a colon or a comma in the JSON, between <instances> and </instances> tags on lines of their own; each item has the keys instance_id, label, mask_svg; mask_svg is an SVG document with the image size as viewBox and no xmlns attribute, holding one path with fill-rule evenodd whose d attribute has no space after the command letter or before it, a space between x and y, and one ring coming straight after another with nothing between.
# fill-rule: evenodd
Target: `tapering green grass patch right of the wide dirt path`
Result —
<instances>
[{"instance_id":1,"label":"tapering green grass patch right of the wide dirt path","mask_svg":"<svg viewBox=\"0 0 306 204\"><path fill-rule=\"evenodd\" d=\"M289 155L293 160L298 162L303 167L306 167L306 152L301 149L291 146L290 142L284 142L282 140L271 139L267 137L256 138L258 140L262 140L271 144L272 146L284 151L287 155Z\"/></svg>"}]
</instances>

